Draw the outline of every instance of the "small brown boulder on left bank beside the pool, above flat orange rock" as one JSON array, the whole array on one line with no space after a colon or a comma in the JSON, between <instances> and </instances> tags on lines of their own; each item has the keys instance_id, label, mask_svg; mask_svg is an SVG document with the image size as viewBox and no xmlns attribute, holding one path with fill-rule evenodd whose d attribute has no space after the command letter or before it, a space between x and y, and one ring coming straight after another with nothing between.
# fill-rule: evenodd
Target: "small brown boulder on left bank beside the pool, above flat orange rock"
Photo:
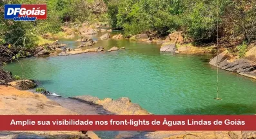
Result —
<instances>
[{"instance_id":1,"label":"small brown boulder on left bank beside the pool, above flat orange rock","mask_svg":"<svg viewBox=\"0 0 256 139\"><path fill-rule=\"evenodd\" d=\"M15 80L13 82L9 82L8 85L17 89L32 89L37 87L34 80Z\"/></svg>"}]
</instances>

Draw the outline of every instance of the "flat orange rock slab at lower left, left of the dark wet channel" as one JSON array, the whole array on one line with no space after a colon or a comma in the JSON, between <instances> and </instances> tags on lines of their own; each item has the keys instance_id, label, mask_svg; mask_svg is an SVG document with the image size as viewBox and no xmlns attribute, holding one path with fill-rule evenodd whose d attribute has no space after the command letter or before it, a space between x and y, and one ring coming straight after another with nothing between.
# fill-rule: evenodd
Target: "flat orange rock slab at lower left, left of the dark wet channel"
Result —
<instances>
[{"instance_id":1,"label":"flat orange rock slab at lower left, left of the dark wet channel","mask_svg":"<svg viewBox=\"0 0 256 139\"><path fill-rule=\"evenodd\" d=\"M0 115L79 115L44 95L0 86ZM95 134L89 132L95 138ZM0 138L84 138L79 131L1 131Z\"/></svg>"}]
</instances>

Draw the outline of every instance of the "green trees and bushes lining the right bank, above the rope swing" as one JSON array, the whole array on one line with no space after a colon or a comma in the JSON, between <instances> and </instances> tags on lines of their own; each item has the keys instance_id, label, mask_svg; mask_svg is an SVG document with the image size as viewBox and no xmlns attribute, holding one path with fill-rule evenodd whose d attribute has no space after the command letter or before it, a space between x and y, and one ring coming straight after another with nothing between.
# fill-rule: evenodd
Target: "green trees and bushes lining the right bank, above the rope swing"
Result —
<instances>
[{"instance_id":1,"label":"green trees and bushes lining the right bank, above the rope swing","mask_svg":"<svg viewBox=\"0 0 256 139\"><path fill-rule=\"evenodd\" d=\"M181 30L195 42L216 41L219 37L256 35L256 1L251 0L106 0L113 27L126 34L157 31L166 35ZM217 24L219 23L219 30Z\"/></svg>"}]
</instances>

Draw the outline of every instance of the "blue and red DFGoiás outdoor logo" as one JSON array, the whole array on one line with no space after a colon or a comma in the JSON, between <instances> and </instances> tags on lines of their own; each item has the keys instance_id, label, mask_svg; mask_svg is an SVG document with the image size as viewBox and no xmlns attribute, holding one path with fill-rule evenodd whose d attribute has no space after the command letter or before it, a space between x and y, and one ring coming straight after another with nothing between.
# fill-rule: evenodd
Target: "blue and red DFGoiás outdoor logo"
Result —
<instances>
[{"instance_id":1,"label":"blue and red DFGoi\u00e1s outdoor logo","mask_svg":"<svg viewBox=\"0 0 256 139\"><path fill-rule=\"evenodd\" d=\"M46 5L5 5L5 19L14 21L46 19Z\"/></svg>"}]
</instances>

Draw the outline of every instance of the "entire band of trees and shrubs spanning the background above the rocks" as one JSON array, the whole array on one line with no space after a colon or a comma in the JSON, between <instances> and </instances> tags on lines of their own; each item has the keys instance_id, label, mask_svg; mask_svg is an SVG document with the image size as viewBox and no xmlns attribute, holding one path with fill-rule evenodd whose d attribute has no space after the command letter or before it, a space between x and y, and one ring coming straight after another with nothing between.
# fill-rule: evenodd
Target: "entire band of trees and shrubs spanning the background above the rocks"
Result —
<instances>
[{"instance_id":1,"label":"entire band of trees and shrubs spanning the background above the rocks","mask_svg":"<svg viewBox=\"0 0 256 139\"><path fill-rule=\"evenodd\" d=\"M43 4L46 20L14 22L3 17L5 4ZM164 36L182 31L188 41L222 42L256 38L253 0L13 0L0 1L0 44L31 48L38 36L61 31L62 23L109 23L125 35L155 32ZM219 24L219 29L217 25Z\"/></svg>"}]
</instances>

